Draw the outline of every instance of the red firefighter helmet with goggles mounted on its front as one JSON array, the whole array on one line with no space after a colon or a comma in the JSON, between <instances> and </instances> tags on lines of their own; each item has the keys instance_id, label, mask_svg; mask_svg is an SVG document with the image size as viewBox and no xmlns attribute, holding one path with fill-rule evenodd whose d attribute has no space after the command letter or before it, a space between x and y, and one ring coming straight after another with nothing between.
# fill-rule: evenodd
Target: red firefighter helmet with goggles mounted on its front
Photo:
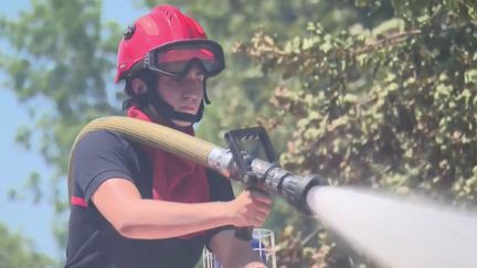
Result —
<instances>
[{"instance_id":1,"label":"red firefighter helmet with goggles mounted on its front","mask_svg":"<svg viewBox=\"0 0 477 268\"><path fill-rule=\"evenodd\" d=\"M193 18L173 6L158 6L125 31L115 83L141 68L179 76L188 72L192 60L202 64L208 76L225 66L221 45L208 40Z\"/></svg>"}]
</instances>

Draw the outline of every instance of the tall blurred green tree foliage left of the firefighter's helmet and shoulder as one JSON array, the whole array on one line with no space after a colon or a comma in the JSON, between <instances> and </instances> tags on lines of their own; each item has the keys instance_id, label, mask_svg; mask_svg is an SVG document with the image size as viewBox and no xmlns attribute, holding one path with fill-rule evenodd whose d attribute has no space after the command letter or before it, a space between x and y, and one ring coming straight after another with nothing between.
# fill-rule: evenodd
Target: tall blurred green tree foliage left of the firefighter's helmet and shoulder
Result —
<instances>
[{"instance_id":1,"label":"tall blurred green tree foliage left of the firefighter's helmet and shoulder","mask_svg":"<svg viewBox=\"0 0 477 268\"><path fill-rule=\"evenodd\" d=\"M46 192L53 193L59 213L66 207L63 178L73 139L84 124L119 108L109 104L106 89L120 32L117 23L102 24L100 7L100 0L39 0L14 21L0 18L2 40L14 51L0 57L0 68L9 77L6 88L30 107L31 115L17 141L28 149L36 149L31 148L36 141L45 161L55 168L49 183L52 190ZM28 182L35 202L45 196L41 180L45 178L33 173Z\"/></svg>"}]
</instances>

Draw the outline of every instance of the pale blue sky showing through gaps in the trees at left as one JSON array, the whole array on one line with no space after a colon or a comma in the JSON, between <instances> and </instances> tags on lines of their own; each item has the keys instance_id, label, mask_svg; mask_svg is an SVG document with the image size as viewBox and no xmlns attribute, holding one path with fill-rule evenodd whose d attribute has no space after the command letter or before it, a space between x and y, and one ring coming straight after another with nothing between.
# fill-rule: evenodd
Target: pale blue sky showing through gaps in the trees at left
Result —
<instances>
[{"instance_id":1,"label":"pale blue sky showing through gaps in the trees at left","mask_svg":"<svg viewBox=\"0 0 477 268\"><path fill-rule=\"evenodd\" d=\"M134 6L132 0L104 0L104 21L115 20L124 28L134 22L146 10ZM14 19L20 11L31 9L30 0L0 1L0 15ZM1 40L1 39L0 39ZM0 42L2 53L8 53L8 46ZM64 249L57 248L52 232L53 210L49 204L32 205L29 199L22 202L9 201L10 189L20 189L32 171L38 171L42 178L51 178L52 169L36 151L28 151L14 142L17 129L29 124L29 115L19 105L15 95L4 88L4 75L0 74L0 222L11 232L18 232L33 242L34 248L55 259L64 257ZM47 109L44 104L35 103L35 109ZM33 144L34 147L35 144ZM65 182L66 183L66 182Z\"/></svg>"}]
</instances>

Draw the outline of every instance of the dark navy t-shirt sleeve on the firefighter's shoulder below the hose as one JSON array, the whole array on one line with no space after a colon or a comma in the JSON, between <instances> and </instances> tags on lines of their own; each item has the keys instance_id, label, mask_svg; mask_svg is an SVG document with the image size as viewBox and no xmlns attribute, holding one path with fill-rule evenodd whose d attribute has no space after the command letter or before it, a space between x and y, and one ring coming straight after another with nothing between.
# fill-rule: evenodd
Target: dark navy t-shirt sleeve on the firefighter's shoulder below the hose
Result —
<instances>
[{"instance_id":1,"label":"dark navy t-shirt sleeve on the firefighter's shoulder below the hose","mask_svg":"<svg viewBox=\"0 0 477 268\"><path fill-rule=\"evenodd\" d=\"M89 203L93 193L108 179L132 181L132 147L118 133L93 131L83 137L73 152L76 190ZM75 190L75 191L76 191Z\"/></svg>"}]
</instances>

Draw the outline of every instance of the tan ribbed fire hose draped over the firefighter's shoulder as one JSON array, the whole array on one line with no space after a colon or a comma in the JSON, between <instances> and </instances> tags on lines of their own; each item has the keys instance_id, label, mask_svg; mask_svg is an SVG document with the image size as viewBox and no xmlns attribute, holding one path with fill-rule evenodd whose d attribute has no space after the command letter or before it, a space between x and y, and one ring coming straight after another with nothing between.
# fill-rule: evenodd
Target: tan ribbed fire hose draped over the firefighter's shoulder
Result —
<instances>
[{"instance_id":1,"label":"tan ribbed fire hose draped over the firefighter's shoulder","mask_svg":"<svg viewBox=\"0 0 477 268\"><path fill-rule=\"evenodd\" d=\"M103 117L87 124L76 137L68 162L68 194L73 194L73 167L76 143L88 132L95 130L113 130L128 140L158 148L195 163L206 165L208 157L213 148L211 142L201 140L178 130L129 117Z\"/></svg>"}]
</instances>

